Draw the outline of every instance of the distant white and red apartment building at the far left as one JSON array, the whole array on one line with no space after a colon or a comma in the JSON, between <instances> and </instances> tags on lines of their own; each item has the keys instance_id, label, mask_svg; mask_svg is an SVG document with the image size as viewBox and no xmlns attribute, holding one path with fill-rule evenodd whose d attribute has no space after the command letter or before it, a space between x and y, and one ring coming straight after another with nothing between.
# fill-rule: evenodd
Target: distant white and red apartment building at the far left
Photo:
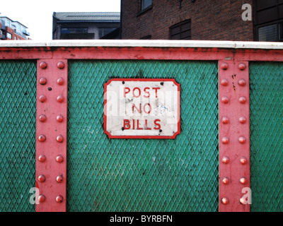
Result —
<instances>
[{"instance_id":1,"label":"distant white and red apartment building at the far left","mask_svg":"<svg viewBox=\"0 0 283 226\"><path fill-rule=\"evenodd\" d=\"M29 40L28 28L6 16L0 16L0 40Z\"/></svg>"}]
</instances>

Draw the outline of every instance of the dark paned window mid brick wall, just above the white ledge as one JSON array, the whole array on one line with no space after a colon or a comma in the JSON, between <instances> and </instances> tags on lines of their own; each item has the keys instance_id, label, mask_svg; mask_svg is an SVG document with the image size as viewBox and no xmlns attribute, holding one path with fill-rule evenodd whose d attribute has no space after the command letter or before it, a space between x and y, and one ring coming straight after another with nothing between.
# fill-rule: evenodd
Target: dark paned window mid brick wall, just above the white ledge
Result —
<instances>
[{"instance_id":1,"label":"dark paned window mid brick wall, just above the white ledge","mask_svg":"<svg viewBox=\"0 0 283 226\"><path fill-rule=\"evenodd\" d=\"M190 40L191 37L191 21L184 20L180 23L173 25L170 30L171 40Z\"/></svg>"}]
</instances>

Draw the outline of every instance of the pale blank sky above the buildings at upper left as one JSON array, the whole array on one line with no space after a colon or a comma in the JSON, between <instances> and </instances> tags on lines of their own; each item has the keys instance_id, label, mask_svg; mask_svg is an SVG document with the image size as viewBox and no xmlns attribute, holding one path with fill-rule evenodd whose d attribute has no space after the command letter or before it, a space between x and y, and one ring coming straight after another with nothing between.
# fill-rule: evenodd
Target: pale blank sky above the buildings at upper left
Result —
<instances>
[{"instance_id":1,"label":"pale blank sky above the buildings at upper left","mask_svg":"<svg viewBox=\"0 0 283 226\"><path fill-rule=\"evenodd\" d=\"M120 12L120 0L13 0L0 4L0 16L27 26L35 41L52 40L53 12Z\"/></svg>"}]
</instances>

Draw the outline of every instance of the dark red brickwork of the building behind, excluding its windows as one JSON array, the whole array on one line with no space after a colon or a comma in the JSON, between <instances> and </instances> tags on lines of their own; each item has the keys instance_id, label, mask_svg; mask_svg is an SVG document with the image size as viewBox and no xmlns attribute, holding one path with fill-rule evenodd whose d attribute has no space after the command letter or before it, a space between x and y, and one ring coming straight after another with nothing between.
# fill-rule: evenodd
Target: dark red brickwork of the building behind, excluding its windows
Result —
<instances>
[{"instance_id":1,"label":"dark red brickwork of the building behind, excluding its windows","mask_svg":"<svg viewBox=\"0 0 283 226\"><path fill-rule=\"evenodd\" d=\"M140 12L141 0L122 0L122 39L168 40L169 28L191 19L192 40L253 41L253 21L242 20L242 5L253 0L152 0Z\"/></svg>"}]
</instances>

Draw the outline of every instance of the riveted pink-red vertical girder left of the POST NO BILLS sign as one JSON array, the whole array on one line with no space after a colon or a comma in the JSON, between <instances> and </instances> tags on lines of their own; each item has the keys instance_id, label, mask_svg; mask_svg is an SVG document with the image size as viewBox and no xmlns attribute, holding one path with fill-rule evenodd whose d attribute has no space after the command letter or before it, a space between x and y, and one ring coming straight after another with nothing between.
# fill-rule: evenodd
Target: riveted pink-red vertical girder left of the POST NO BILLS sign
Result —
<instances>
[{"instance_id":1,"label":"riveted pink-red vertical girder left of the POST NO BILLS sign","mask_svg":"<svg viewBox=\"0 0 283 226\"><path fill-rule=\"evenodd\" d=\"M66 211L67 60L37 61L37 212Z\"/></svg>"}]
</instances>

